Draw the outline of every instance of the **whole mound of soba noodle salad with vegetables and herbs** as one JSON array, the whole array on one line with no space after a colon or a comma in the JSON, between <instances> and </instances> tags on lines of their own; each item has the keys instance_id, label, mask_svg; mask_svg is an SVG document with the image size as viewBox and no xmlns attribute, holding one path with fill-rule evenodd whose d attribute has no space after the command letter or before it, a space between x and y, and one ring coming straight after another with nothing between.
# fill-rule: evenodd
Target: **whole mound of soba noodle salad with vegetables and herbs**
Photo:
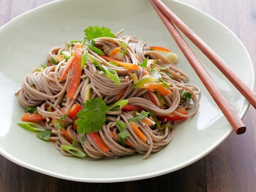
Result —
<instances>
[{"instance_id":1,"label":"whole mound of soba noodle salad with vegetables and herbs","mask_svg":"<svg viewBox=\"0 0 256 192\"><path fill-rule=\"evenodd\" d=\"M158 152L178 120L198 110L200 89L168 48L89 26L83 41L52 47L16 92L18 125L36 131L64 156L120 157Z\"/></svg>"}]
</instances>

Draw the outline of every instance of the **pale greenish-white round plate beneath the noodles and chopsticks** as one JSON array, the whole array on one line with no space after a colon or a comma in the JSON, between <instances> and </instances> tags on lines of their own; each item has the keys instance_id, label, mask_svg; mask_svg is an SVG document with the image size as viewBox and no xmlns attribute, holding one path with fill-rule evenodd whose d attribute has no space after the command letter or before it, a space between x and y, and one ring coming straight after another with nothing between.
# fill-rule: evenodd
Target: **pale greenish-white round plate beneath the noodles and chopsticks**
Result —
<instances>
[{"instance_id":1,"label":"pale greenish-white round plate beneath the noodles and chopsticks","mask_svg":"<svg viewBox=\"0 0 256 192\"><path fill-rule=\"evenodd\" d=\"M254 86L252 62L242 43L225 26L210 16L181 2L164 3L194 30L251 88ZM171 48L180 56L178 66L190 76L190 83L202 90L200 108L196 116L180 123L172 142L158 153L142 160L143 155L119 159L68 158L55 149L52 142L44 142L16 125L24 111L14 92L33 67L46 61L51 46L82 40L88 26L106 26L116 33L134 35L148 45ZM0 154L12 162L31 170L82 182L120 182L159 176L184 168L212 152L232 132L211 96L189 66L158 18L148 0L61 0L36 8L15 18L0 28ZM244 116L248 102L212 65L192 46L228 101Z\"/></svg>"}]
</instances>

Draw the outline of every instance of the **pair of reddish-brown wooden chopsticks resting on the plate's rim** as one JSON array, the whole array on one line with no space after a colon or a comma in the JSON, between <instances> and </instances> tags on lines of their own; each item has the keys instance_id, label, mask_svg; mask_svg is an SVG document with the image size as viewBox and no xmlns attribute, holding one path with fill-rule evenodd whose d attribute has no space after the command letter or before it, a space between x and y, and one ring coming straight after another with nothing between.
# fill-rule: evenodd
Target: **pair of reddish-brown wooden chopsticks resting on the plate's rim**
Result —
<instances>
[{"instance_id":1,"label":"pair of reddish-brown wooden chopsticks resting on the plate's rim","mask_svg":"<svg viewBox=\"0 0 256 192\"><path fill-rule=\"evenodd\" d=\"M180 47L184 56L236 132L243 134L246 131L244 123L236 114L232 106L218 86L214 83L204 66L200 63L193 51L190 49L184 38L180 35L179 28L208 58L209 60L228 78L228 80L240 91L240 93L256 108L256 94L248 87L240 77L203 41L201 40L182 20L178 18L161 0L150 0L150 3L156 10L158 16ZM176 27L174 26L176 25Z\"/></svg>"}]
</instances>

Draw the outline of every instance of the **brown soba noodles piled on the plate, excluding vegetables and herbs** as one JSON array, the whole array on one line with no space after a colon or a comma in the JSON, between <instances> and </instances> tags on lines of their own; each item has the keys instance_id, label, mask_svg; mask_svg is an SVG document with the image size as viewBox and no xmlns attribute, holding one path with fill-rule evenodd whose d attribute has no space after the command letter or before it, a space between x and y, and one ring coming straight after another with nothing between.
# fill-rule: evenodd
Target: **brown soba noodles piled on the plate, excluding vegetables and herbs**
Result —
<instances>
[{"instance_id":1,"label":"brown soba noodles piled on the plate, excluding vegetables and herbs","mask_svg":"<svg viewBox=\"0 0 256 192\"><path fill-rule=\"evenodd\" d=\"M170 83L169 89L172 91L172 94L163 97L165 104L162 106L155 92L145 88L131 89L134 84L131 74L136 74L138 80L141 80L143 71L141 67L140 70L130 70L121 66L112 65L90 50L86 45L83 46L82 51L88 50L88 56L94 58L100 64L116 70L120 77L120 85L117 85L110 80L106 74L100 72L100 70L92 64L92 60L87 59L86 65L84 65L82 70L81 82L75 95L76 99L72 99L66 97L66 91L70 86L72 69L70 69L63 81L58 81L67 63L66 60L61 60L58 64L48 66L42 71L32 70L26 78L24 78L22 88L17 92L20 104L24 108L30 106L37 107L38 113L46 118L46 120L42 121L42 125L44 128L52 130L50 139L56 140L55 146L63 155L72 156L60 146L62 144L72 144L68 142L62 131L54 127L52 119L60 119L65 115L60 110L63 106L69 109L73 104L77 103L84 107L84 103L86 102L85 94L88 90L90 90L90 98L102 98L107 105L111 105L117 101L117 95L124 88L127 88L126 92L124 92L118 100L127 99L129 104L141 106L145 111L150 110L155 115L170 115L180 107L190 109L190 114L180 114L180 116L191 117L197 112L197 95L200 92L199 88L192 84L186 84L185 82L188 80L188 76L165 56L150 49L143 40L138 40L134 36L123 36L122 38L102 37L94 40L96 46L101 48L106 55L110 54L111 50L114 48L120 46L121 42L126 42L127 54L121 58L123 62L138 64L142 63L148 56L150 59L157 59L158 61L154 67L157 69L161 66L162 70L160 74L164 81ZM48 52L48 62L50 62L52 58L58 61L61 52L68 51L71 53L73 47L74 45L51 48ZM148 66L148 68L150 67L152 66ZM180 92L184 90L192 94L191 100L180 98ZM155 98L157 104L152 103L149 95ZM52 108L51 111L47 110L49 106ZM90 138L89 134L84 134L84 141L81 141L81 135L74 131L72 124L66 129L78 142L76 148L82 150L87 156L92 158L102 158L103 156L118 157L138 152L144 154L145 159L151 152L158 152L172 140L175 121L171 122L166 119L159 120L162 127L164 127L165 124L171 124L172 126L158 129L156 125L148 126L140 120L136 125L146 136L146 142L143 142L134 133L128 123L128 119L132 117L134 117L133 112L122 110L107 113L106 125L99 131L100 137L110 148L107 152L102 151L97 144L94 143L94 140ZM112 132L116 134L119 132L115 120L127 124L126 129L130 133L130 136L126 139L133 147L123 146L120 144L120 141L114 137ZM74 119L67 116L63 121L74 122Z\"/></svg>"}]
</instances>

